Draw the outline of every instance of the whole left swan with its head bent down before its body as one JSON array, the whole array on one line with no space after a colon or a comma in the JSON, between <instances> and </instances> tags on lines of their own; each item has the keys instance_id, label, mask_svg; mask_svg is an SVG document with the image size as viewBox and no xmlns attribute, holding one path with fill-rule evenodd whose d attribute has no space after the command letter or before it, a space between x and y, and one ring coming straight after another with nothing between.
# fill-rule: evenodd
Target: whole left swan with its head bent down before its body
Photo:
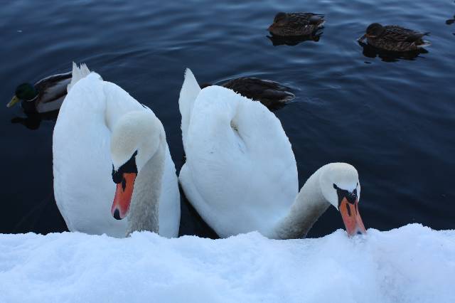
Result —
<instances>
[{"instance_id":1,"label":"whole left swan with its head bent down before its body","mask_svg":"<svg viewBox=\"0 0 455 303\"><path fill-rule=\"evenodd\" d=\"M178 235L180 194L163 125L85 65L73 63L55 124L53 174L55 201L70 231Z\"/></svg>"}]
</instances>

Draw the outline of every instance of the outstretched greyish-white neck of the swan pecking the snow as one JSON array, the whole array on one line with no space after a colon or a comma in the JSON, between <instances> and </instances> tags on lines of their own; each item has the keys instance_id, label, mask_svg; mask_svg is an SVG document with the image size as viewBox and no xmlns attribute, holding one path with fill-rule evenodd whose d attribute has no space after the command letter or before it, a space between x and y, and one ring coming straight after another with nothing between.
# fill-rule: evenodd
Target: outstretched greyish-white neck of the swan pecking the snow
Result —
<instances>
[{"instance_id":1,"label":"outstretched greyish-white neck of the swan pecking the snow","mask_svg":"<svg viewBox=\"0 0 455 303\"><path fill-rule=\"evenodd\" d=\"M322 168L305 182L291 205L289 213L274 226L269 238L305 238L316 220L331 206L321 191L319 184L321 171Z\"/></svg>"}]
</instances>

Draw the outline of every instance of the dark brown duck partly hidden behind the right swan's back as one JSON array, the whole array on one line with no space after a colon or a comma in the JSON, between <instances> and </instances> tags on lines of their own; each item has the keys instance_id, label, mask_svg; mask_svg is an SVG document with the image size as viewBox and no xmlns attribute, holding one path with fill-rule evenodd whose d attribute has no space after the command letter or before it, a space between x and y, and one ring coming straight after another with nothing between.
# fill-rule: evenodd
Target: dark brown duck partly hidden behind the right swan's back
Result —
<instances>
[{"instance_id":1,"label":"dark brown duck partly hidden behind the right swan's back","mask_svg":"<svg viewBox=\"0 0 455 303\"><path fill-rule=\"evenodd\" d=\"M203 83L200 87L204 88L210 85L209 83ZM259 101L269 110L277 110L295 97L292 92L289 92L291 90L289 87L259 78L235 78L223 83L221 86L249 99Z\"/></svg>"}]
</instances>

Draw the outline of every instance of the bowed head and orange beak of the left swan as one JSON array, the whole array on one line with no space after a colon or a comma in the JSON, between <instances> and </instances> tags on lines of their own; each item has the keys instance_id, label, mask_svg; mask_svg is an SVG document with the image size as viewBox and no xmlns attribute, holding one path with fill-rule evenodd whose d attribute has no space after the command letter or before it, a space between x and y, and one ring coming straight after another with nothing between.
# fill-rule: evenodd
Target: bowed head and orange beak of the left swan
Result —
<instances>
[{"instance_id":1,"label":"bowed head and orange beak of the left swan","mask_svg":"<svg viewBox=\"0 0 455 303\"><path fill-rule=\"evenodd\" d=\"M117 184L111 213L121 220L129 211L134 181L166 141L163 125L151 110L128 112L114 125L111 136L112 180Z\"/></svg>"}]
</instances>

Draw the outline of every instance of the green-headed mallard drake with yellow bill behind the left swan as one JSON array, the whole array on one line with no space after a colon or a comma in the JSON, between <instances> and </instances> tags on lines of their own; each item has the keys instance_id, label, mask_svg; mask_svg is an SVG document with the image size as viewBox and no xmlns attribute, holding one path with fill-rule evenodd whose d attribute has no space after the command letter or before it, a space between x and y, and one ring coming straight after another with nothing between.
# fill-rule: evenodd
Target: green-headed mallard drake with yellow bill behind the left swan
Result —
<instances>
[{"instance_id":1,"label":"green-headed mallard drake with yellow bill behind the left swan","mask_svg":"<svg viewBox=\"0 0 455 303\"><path fill-rule=\"evenodd\" d=\"M26 114L53 112L62 105L67 94L67 85L71 82L71 72L51 75L32 85L22 83L6 107L12 107L21 101Z\"/></svg>"}]
</instances>

